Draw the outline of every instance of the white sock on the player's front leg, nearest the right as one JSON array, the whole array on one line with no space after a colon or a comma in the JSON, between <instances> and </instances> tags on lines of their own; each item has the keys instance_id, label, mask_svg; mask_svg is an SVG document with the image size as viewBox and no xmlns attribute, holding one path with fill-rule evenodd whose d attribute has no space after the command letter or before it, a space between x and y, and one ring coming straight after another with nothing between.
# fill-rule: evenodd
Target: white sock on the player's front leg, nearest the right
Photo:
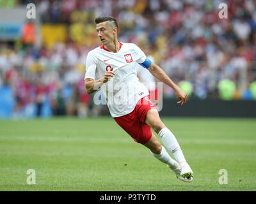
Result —
<instances>
[{"instance_id":1,"label":"white sock on the player's front leg, nearest the right","mask_svg":"<svg viewBox=\"0 0 256 204\"><path fill-rule=\"evenodd\" d=\"M158 135L161 137L164 146L172 153L174 159L178 163L186 163L186 159L182 153L182 150L180 149L180 145L170 129L163 128Z\"/></svg>"}]
</instances>

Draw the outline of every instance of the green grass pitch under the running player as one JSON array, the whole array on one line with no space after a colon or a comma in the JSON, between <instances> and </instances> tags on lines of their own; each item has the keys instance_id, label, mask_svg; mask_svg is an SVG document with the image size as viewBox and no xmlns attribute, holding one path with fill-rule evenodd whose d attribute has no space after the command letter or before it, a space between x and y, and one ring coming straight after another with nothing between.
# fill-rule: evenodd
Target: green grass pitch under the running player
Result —
<instances>
[{"instance_id":1,"label":"green grass pitch under the running player","mask_svg":"<svg viewBox=\"0 0 256 204\"><path fill-rule=\"evenodd\" d=\"M256 191L256 119L163 118L193 168L175 178L113 119L0 120L0 191ZM36 172L28 185L27 170ZM219 184L219 170L228 184Z\"/></svg>"}]
</instances>

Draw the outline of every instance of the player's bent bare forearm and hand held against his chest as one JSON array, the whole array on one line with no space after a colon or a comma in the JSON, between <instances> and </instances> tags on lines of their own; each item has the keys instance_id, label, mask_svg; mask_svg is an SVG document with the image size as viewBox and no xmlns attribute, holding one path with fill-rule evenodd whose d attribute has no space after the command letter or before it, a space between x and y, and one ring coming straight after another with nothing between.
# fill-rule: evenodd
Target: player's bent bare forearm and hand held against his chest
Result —
<instances>
[{"instance_id":1,"label":"player's bent bare forearm and hand held against his chest","mask_svg":"<svg viewBox=\"0 0 256 204\"><path fill-rule=\"evenodd\" d=\"M106 82L108 82L111 77L114 77L115 73L113 71L106 71L104 76L98 80L93 80L92 78L87 78L84 81L84 89L88 94L99 90L99 88Z\"/></svg>"}]
</instances>

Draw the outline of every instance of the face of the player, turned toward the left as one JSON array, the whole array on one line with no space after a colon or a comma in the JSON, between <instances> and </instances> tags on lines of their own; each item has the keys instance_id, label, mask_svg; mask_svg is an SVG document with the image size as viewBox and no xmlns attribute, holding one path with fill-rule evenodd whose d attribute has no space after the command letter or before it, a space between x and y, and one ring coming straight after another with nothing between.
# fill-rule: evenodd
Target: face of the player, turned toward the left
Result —
<instances>
[{"instance_id":1,"label":"face of the player, turned toward the left","mask_svg":"<svg viewBox=\"0 0 256 204\"><path fill-rule=\"evenodd\" d=\"M113 29L108 22L101 22L96 25L96 31L102 45L108 45L114 41L115 28Z\"/></svg>"}]
</instances>

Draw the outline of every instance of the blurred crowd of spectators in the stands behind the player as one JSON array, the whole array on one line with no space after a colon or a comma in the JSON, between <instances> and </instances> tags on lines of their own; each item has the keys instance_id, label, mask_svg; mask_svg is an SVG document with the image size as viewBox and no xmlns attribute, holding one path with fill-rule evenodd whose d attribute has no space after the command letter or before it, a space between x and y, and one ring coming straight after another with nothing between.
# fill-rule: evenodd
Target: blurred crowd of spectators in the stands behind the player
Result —
<instances>
[{"instance_id":1,"label":"blurred crowd of spectators in the stands behind the player","mask_svg":"<svg viewBox=\"0 0 256 204\"><path fill-rule=\"evenodd\" d=\"M234 87L229 99L256 99L250 89L256 80L256 1L35 2L41 24L65 24L67 39L40 47L0 44L0 85L12 87L17 115L26 108L30 113L31 104L40 115L45 101L54 115L100 112L83 85L86 55L100 44L99 15L116 17L119 40L136 43L174 82L191 84L191 98L221 98L226 88L220 83L228 80ZM221 3L228 6L227 19L219 16ZM163 96L174 93L164 86Z\"/></svg>"}]
</instances>

